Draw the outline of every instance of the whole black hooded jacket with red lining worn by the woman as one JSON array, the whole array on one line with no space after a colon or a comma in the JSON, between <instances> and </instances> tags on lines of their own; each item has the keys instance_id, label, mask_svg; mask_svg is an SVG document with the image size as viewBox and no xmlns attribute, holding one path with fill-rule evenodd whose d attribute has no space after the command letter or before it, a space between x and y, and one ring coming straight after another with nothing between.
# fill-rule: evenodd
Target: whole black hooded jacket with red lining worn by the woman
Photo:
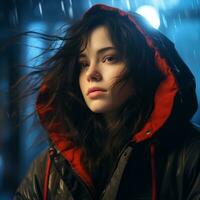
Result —
<instances>
[{"instance_id":1,"label":"whole black hooded jacket with red lining worn by the woman","mask_svg":"<svg viewBox=\"0 0 200 200\"><path fill-rule=\"evenodd\" d=\"M131 20L154 49L155 62L166 79L156 92L148 122L116 158L109 182L98 198L199 200L200 134L189 123L197 108L194 78L174 45L138 15L96 5L85 16L105 10ZM45 106L47 88L42 87L37 101L44 126L46 114L52 112ZM80 163L81 150L73 145L66 148L64 135L46 129L50 148L33 162L15 199L97 199L90 176Z\"/></svg>"}]
</instances>

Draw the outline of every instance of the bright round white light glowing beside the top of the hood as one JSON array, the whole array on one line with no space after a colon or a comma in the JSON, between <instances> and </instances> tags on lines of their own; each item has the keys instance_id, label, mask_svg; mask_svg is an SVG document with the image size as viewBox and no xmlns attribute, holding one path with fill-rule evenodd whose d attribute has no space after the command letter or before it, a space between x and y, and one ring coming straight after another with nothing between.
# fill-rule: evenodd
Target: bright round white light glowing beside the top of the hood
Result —
<instances>
[{"instance_id":1,"label":"bright round white light glowing beside the top of the hood","mask_svg":"<svg viewBox=\"0 0 200 200\"><path fill-rule=\"evenodd\" d=\"M153 6L141 6L136 12L147 19L147 21L156 29L160 26L160 17L158 11Z\"/></svg>"}]
</instances>

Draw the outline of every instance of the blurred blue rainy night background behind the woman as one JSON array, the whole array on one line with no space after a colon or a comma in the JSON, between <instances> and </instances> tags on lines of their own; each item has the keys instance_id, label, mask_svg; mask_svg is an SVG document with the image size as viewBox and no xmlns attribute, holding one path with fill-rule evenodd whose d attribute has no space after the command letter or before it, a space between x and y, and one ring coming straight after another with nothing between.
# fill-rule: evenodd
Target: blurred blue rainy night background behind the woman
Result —
<instances>
[{"instance_id":1,"label":"blurred blue rainy night background behind the woman","mask_svg":"<svg viewBox=\"0 0 200 200\"><path fill-rule=\"evenodd\" d=\"M12 101L11 88L21 75L31 71L30 68L18 67L18 64L35 65L36 61L32 58L39 55L42 48L48 44L35 37L22 37L17 39L17 42L11 42L10 38L24 31L59 35L59 27L79 18L96 3L104 3L130 12L136 11L169 37L195 76L200 105L200 0L1 0L1 200L12 199L31 161L47 146L44 130L38 125L33 125L34 116L24 120L24 116L34 110L34 96L23 103ZM7 40L9 45L5 47ZM200 125L200 108L192 122Z\"/></svg>"}]
</instances>

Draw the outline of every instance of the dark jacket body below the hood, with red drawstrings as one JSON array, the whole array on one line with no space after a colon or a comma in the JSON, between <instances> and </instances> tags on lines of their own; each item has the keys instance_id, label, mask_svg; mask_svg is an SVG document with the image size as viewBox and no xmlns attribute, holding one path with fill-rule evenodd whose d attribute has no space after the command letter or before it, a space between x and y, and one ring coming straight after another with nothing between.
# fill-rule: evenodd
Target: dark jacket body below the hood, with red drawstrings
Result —
<instances>
[{"instance_id":1,"label":"dark jacket body below the hood, with red drawstrings","mask_svg":"<svg viewBox=\"0 0 200 200\"><path fill-rule=\"evenodd\" d=\"M183 136L184 131L181 132ZM200 134L192 129L187 131L190 134L168 145L160 141L130 143L117 159L116 168L100 199L199 200ZM48 189L47 186L45 189L49 154L52 163ZM54 148L45 151L33 162L15 199L44 199L45 190L46 199L96 199Z\"/></svg>"}]
</instances>

